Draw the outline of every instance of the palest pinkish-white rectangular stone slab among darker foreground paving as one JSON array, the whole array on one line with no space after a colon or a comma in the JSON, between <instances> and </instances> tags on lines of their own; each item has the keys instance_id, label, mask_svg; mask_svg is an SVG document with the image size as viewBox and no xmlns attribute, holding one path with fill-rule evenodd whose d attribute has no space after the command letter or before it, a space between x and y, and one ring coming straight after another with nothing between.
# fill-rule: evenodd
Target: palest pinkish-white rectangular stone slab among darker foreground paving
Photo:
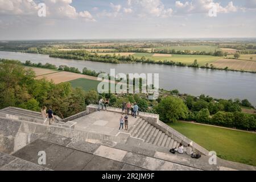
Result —
<instances>
[{"instance_id":1,"label":"palest pinkish-white rectangular stone slab among darker foreground paving","mask_svg":"<svg viewBox=\"0 0 256 182\"><path fill-rule=\"evenodd\" d=\"M100 146L94 152L94 155L102 156L104 158L113 159L117 161L122 161L122 159L127 154L127 151L118 150L111 147Z\"/></svg>"}]
</instances>

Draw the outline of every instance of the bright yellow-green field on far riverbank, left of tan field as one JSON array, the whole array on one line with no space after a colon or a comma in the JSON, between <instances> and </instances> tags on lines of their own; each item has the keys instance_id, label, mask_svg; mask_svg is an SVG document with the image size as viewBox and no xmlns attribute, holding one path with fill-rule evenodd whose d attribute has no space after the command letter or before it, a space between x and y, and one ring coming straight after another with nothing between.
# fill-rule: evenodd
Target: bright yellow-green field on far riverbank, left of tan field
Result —
<instances>
[{"instance_id":1,"label":"bright yellow-green field on far riverbank, left of tan field","mask_svg":"<svg viewBox=\"0 0 256 182\"><path fill-rule=\"evenodd\" d=\"M146 59L151 60L170 60L174 62L181 62L184 64L192 64L193 61L196 59L199 65L205 65L206 63L213 63L221 57L217 56L205 56L205 55L172 55L172 57L152 57L152 53L135 53L133 56L141 58L142 56L146 57Z\"/></svg>"}]
</instances>

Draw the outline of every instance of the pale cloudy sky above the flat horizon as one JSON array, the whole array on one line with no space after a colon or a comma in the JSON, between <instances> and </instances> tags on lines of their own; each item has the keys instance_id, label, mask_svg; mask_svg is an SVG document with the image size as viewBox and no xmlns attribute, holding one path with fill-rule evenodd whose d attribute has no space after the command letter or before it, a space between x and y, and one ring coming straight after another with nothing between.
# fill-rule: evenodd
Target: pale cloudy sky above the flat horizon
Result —
<instances>
[{"instance_id":1,"label":"pale cloudy sky above the flat horizon","mask_svg":"<svg viewBox=\"0 0 256 182\"><path fill-rule=\"evenodd\" d=\"M256 0L0 0L0 40L255 37Z\"/></svg>"}]
</instances>

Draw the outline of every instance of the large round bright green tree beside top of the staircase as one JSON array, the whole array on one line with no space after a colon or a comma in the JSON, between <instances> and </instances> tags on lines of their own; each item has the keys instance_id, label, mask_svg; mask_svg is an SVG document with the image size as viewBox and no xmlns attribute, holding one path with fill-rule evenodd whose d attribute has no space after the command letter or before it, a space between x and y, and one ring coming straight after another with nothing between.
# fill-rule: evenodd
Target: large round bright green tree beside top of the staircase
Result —
<instances>
[{"instance_id":1,"label":"large round bright green tree beside top of the staircase","mask_svg":"<svg viewBox=\"0 0 256 182\"><path fill-rule=\"evenodd\" d=\"M188 107L180 98L166 97L156 106L156 112L164 122L176 122L177 119L185 119L188 114Z\"/></svg>"}]
</instances>

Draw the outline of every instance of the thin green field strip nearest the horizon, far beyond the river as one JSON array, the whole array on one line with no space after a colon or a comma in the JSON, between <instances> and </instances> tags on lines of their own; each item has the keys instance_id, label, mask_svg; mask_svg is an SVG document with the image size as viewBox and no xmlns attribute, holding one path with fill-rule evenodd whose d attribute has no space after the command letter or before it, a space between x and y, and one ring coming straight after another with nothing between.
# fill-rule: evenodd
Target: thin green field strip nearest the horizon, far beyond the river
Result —
<instances>
[{"instance_id":1,"label":"thin green field strip nearest the horizon, far beyond the river","mask_svg":"<svg viewBox=\"0 0 256 182\"><path fill-rule=\"evenodd\" d=\"M156 47L155 49L175 49L175 51L205 51L205 52L214 52L220 51L218 47L215 46L166 46L166 47Z\"/></svg>"}]
</instances>

